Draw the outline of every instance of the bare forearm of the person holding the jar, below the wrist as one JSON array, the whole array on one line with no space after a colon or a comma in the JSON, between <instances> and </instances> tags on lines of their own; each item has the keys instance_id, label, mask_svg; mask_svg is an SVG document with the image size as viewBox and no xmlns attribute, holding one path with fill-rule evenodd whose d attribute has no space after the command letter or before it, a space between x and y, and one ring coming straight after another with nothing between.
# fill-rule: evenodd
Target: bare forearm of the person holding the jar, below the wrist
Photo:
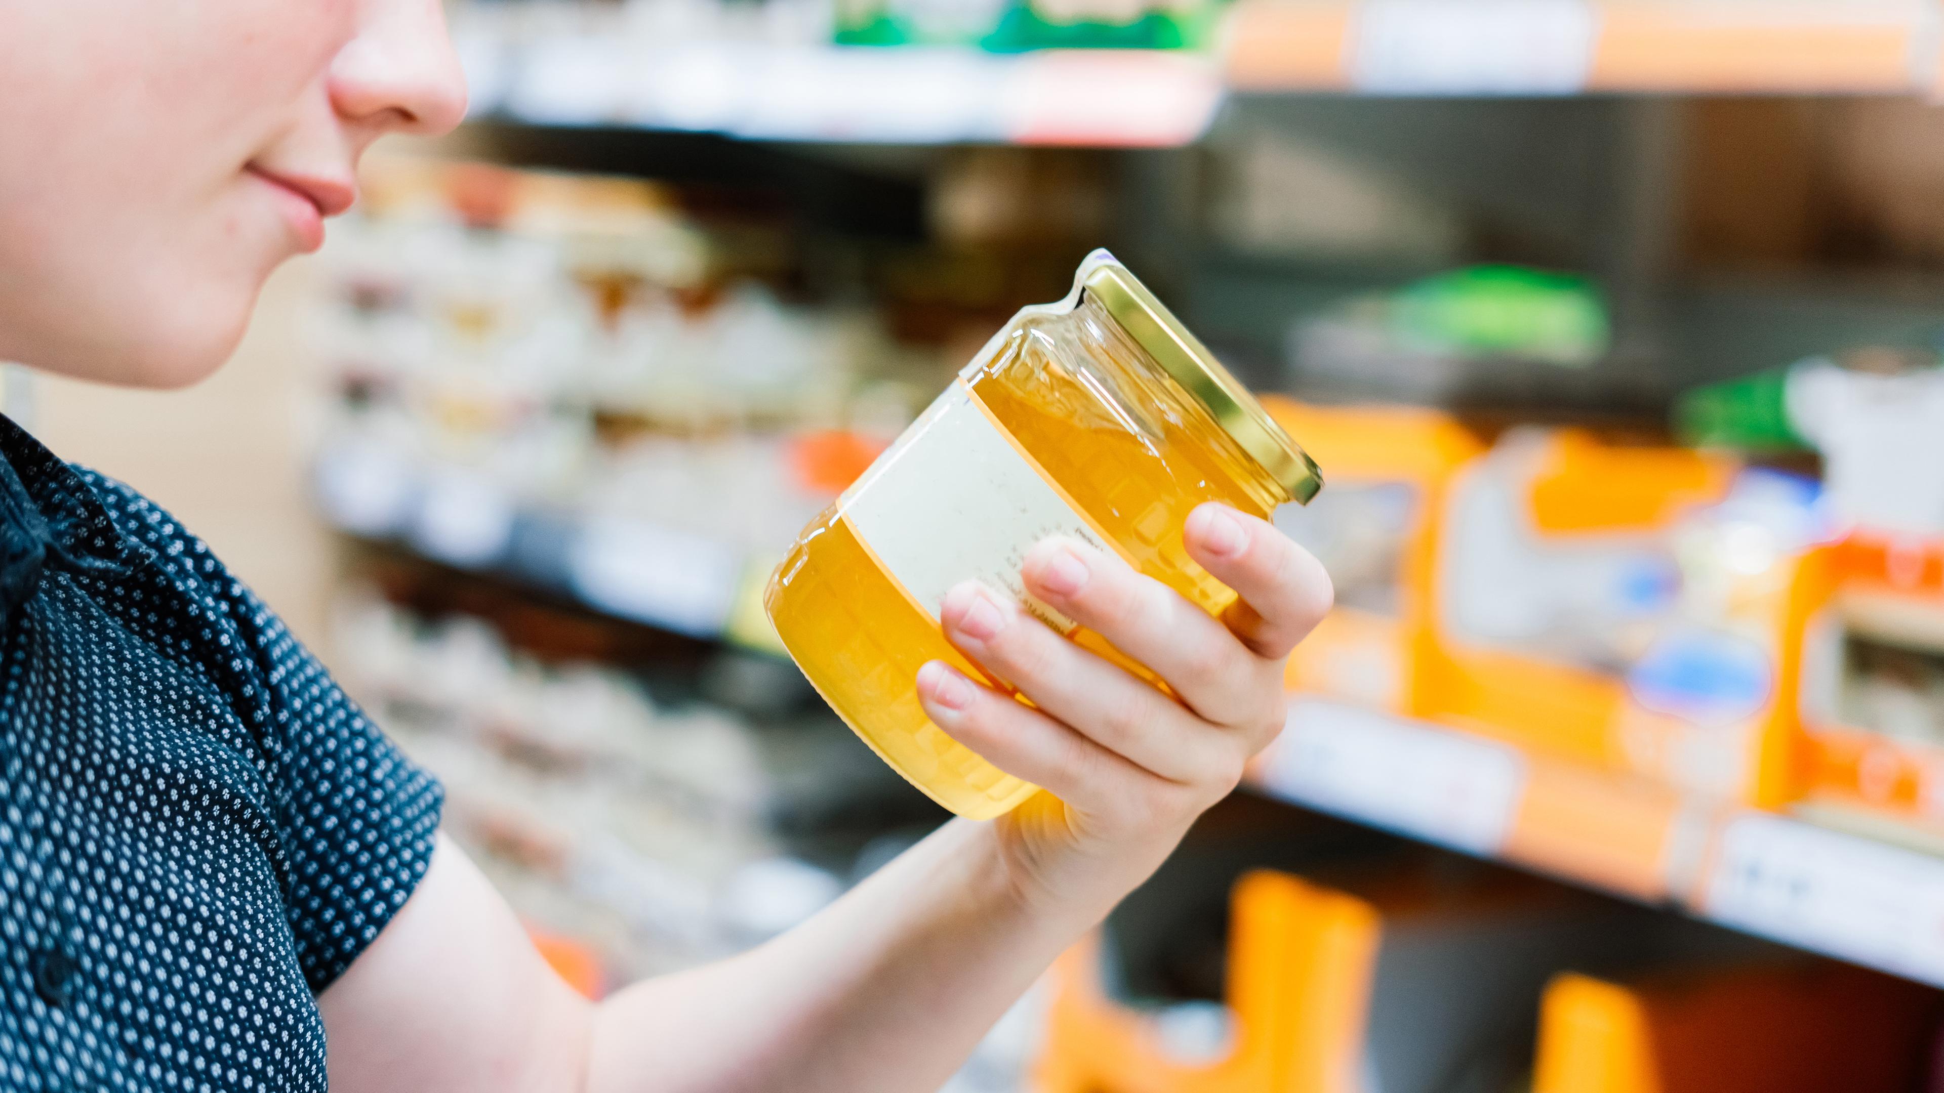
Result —
<instances>
[{"instance_id":1,"label":"bare forearm of the person holding the jar, below the wrist","mask_svg":"<svg viewBox=\"0 0 1944 1093\"><path fill-rule=\"evenodd\" d=\"M931 1093L1096 912L1034 912L955 821L797 930L630 986L589 1093Z\"/></svg>"}]
</instances>

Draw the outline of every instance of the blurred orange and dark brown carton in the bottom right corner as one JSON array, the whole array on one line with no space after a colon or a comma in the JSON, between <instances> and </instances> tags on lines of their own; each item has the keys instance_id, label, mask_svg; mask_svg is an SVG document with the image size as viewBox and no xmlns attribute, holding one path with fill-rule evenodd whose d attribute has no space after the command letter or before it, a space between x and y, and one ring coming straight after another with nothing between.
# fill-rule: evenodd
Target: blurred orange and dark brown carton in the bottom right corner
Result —
<instances>
[{"instance_id":1,"label":"blurred orange and dark brown carton in the bottom right corner","mask_svg":"<svg viewBox=\"0 0 1944 1093\"><path fill-rule=\"evenodd\" d=\"M1532 1093L1934 1089L1938 994L1827 961L1545 988Z\"/></svg>"}]
</instances>

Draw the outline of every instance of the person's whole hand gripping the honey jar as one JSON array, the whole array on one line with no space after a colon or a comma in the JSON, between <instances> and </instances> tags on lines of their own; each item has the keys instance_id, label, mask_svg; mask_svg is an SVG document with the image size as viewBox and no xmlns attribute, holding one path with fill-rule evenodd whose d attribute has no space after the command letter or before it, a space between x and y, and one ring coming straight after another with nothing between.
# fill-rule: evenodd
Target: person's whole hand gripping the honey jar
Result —
<instances>
[{"instance_id":1,"label":"person's whole hand gripping the honey jar","mask_svg":"<svg viewBox=\"0 0 1944 1093\"><path fill-rule=\"evenodd\" d=\"M1104 916L1283 727L1283 661L1330 611L1330 576L1273 525L1229 506L1198 508L1184 539L1240 593L1221 620L1069 539L1040 543L1024 564L1032 595L1147 665L1176 698L986 585L945 597L945 636L1036 706L941 661L918 673L933 723L1048 790L991 827L1028 910L1077 914L1083 926Z\"/></svg>"}]
</instances>

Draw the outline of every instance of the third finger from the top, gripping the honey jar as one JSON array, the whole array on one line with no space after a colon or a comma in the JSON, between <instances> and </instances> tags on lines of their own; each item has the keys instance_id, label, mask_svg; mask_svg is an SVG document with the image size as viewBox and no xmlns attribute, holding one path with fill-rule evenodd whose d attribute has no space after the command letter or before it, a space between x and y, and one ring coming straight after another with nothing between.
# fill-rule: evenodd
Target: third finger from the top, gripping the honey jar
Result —
<instances>
[{"instance_id":1,"label":"third finger from the top, gripping the honey jar","mask_svg":"<svg viewBox=\"0 0 1944 1093\"><path fill-rule=\"evenodd\" d=\"M1106 751L1170 782L1223 776L1219 749L1211 753L1194 743L1209 725L1155 687L1056 634L1011 597L966 582L947 593L939 615L945 636L968 657Z\"/></svg>"}]
</instances>

